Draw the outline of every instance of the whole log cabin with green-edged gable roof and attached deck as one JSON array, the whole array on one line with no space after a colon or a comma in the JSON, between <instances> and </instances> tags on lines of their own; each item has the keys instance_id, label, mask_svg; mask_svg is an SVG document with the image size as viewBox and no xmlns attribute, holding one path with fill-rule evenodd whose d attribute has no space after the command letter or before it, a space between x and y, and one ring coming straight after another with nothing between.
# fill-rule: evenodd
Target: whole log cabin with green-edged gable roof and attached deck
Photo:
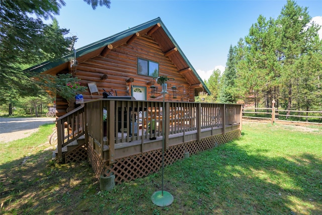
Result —
<instances>
[{"instance_id":1,"label":"whole log cabin with green-edged gable roof and attached deck","mask_svg":"<svg viewBox=\"0 0 322 215\"><path fill-rule=\"evenodd\" d=\"M210 92L160 18L30 70L70 73L89 86L75 109L57 96L54 155L58 162L88 159L99 180L156 172L163 144L167 165L240 135L241 105L194 102ZM160 76L171 78L167 94L155 82ZM114 96L103 99L104 91Z\"/></svg>"}]
</instances>

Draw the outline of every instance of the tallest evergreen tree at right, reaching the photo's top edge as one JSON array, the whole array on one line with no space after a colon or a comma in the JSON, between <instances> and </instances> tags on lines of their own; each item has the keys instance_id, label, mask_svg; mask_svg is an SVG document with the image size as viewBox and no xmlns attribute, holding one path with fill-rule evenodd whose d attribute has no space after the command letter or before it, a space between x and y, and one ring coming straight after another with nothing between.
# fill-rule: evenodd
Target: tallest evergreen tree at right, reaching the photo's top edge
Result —
<instances>
[{"instance_id":1,"label":"tallest evergreen tree at right, reaching the photo's top edge","mask_svg":"<svg viewBox=\"0 0 322 215\"><path fill-rule=\"evenodd\" d=\"M283 100L287 110L291 110L296 86L300 86L302 70L301 58L319 42L316 34L319 27L309 25L311 17L307 8L298 6L294 1L288 0L277 19L277 32L280 37L279 52L281 53L281 81L283 83ZM299 92L297 90L297 92ZM289 112L287 113L289 115Z\"/></svg>"}]
</instances>

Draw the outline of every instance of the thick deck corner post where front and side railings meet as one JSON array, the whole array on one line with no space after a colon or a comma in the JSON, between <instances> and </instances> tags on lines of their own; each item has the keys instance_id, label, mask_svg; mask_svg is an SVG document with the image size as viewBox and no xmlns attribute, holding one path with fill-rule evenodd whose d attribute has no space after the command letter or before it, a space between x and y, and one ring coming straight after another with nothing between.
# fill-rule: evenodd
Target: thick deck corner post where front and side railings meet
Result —
<instances>
[{"instance_id":1,"label":"thick deck corner post where front and side railings meet","mask_svg":"<svg viewBox=\"0 0 322 215\"><path fill-rule=\"evenodd\" d=\"M109 164L115 163L115 101L108 101L109 107L109 134L108 134L108 145L109 145ZM102 148L104 148L102 144Z\"/></svg>"}]
</instances>

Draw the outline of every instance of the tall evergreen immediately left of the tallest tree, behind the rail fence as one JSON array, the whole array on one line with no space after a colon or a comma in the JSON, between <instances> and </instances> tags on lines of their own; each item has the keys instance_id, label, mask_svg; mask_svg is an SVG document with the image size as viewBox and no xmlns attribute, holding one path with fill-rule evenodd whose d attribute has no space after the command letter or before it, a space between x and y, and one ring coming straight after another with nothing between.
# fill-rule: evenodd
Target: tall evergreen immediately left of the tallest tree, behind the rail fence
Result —
<instances>
[{"instance_id":1,"label":"tall evergreen immediately left of the tallest tree, behind the rail fence","mask_svg":"<svg viewBox=\"0 0 322 215\"><path fill-rule=\"evenodd\" d=\"M247 79L249 84L253 84L251 91L256 106L260 99L264 99L265 106L270 107L272 100L278 97L279 66L275 53L277 40L274 29L275 21L273 19L266 21L266 18L260 15L245 38L246 46L249 47L245 56L249 69L244 73L251 74L244 76L249 77ZM244 84L248 86L248 83Z\"/></svg>"}]
</instances>

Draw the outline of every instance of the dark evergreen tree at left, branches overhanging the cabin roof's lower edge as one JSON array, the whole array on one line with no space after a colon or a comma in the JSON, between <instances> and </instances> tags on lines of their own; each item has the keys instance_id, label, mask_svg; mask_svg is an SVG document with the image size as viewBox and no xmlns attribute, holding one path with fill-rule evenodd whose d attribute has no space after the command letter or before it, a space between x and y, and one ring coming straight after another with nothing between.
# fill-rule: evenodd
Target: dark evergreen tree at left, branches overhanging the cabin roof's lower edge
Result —
<instances>
[{"instance_id":1,"label":"dark evergreen tree at left, branches overhanging the cabin roof's lower edge","mask_svg":"<svg viewBox=\"0 0 322 215\"><path fill-rule=\"evenodd\" d=\"M110 7L109 0L85 0L93 9ZM62 0L6 0L0 2L0 104L21 96L38 95L41 90L23 69L69 52L74 38L64 37L53 19L65 5Z\"/></svg>"}]
</instances>

